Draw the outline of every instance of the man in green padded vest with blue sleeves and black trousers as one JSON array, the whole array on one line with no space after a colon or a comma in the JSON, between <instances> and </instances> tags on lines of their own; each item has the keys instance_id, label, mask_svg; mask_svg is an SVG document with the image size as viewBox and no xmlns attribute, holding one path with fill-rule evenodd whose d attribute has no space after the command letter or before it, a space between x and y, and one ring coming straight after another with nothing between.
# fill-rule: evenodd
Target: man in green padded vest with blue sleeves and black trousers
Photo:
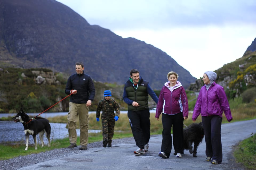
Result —
<instances>
[{"instance_id":1,"label":"man in green padded vest with blue sleeves and black trousers","mask_svg":"<svg viewBox=\"0 0 256 170\"><path fill-rule=\"evenodd\" d=\"M149 82L139 76L137 69L130 71L130 77L125 83L123 100L128 104L128 113L131 130L138 149L134 154L145 154L149 149L150 120L149 95L158 102L158 97L149 86Z\"/></svg>"}]
</instances>

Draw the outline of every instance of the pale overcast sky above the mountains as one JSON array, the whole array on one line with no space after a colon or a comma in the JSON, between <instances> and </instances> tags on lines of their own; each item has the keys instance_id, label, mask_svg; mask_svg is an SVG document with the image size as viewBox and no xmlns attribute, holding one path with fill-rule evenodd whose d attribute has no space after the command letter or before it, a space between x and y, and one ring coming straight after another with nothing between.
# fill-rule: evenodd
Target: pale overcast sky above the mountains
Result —
<instances>
[{"instance_id":1,"label":"pale overcast sky above the mountains","mask_svg":"<svg viewBox=\"0 0 256 170\"><path fill-rule=\"evenodd\" d=\"M161 49L198 79L241 58L256 37L255 0L57 1L90 25Z\"/></svg>"}]
</instances>

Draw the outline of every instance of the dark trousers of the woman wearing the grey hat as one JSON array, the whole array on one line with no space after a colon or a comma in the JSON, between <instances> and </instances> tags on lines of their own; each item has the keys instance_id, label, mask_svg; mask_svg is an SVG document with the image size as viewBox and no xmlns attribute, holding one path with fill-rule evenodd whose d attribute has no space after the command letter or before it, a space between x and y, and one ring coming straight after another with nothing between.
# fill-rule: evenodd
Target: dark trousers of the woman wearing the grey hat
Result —
<instances>
[{"instance_id":1,"label":"dark trousers of the woman wearing the grey hat","mask_svg":"<svg viewBox=\"0 0 256 170\"><path fill-rule=\"evenodd\" d=\"M219 164L222 162L221 122L220 116L202 116L206 143L205 154Z\"/></svg>"}]
</instances>

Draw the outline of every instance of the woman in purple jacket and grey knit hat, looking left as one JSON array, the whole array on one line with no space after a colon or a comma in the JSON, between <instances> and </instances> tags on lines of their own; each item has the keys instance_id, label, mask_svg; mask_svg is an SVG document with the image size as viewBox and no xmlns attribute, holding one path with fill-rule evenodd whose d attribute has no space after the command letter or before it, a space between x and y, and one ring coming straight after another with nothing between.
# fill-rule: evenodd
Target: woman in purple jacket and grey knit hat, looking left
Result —
<instances>
[{"instance_id":1,"label":"woman in purple jacket and grey knit hat, looking left","mask_svg":"<svg viewBox=\"0 0 256 170\"><path fill-rule=\"evenodd\" d=\"M212 159L212 164L221 164L221 122L223 111L227 121L230 122L233 118L224 88L215 83L216 78L217 74L213 71L206 71L203 74L203 83L205 85L199 92L192 120L195 122L201 113L205 133L206 161L211 161Z\"/></svg>"}]
</instances>

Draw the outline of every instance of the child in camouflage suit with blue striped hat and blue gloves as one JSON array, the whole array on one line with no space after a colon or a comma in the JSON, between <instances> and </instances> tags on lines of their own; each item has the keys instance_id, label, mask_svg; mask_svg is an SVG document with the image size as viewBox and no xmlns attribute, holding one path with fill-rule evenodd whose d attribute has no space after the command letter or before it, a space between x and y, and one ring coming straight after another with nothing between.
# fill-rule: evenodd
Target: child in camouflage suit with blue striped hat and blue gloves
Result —
<instances>
[{"instance_id":1,"label":"child in camouflage suit with blue striped hat and blue gloves","mask_svg":"<svg viewBox=\"0 0 256 170\"><path fill-rule=\"evenodd\" d=\"M102 136L103 136L103 147L112 146L112 137L114 135L114 126L115 121L118 120L120 115L120 108L118 103L110 98L111 91L104 91L104 99L99 101L97 111L96 111L96 120L99 121L99 116L101 114L101 123L102 123ZM114 113L115 110L115 113Z\"/></svg>"}]
</instances>

